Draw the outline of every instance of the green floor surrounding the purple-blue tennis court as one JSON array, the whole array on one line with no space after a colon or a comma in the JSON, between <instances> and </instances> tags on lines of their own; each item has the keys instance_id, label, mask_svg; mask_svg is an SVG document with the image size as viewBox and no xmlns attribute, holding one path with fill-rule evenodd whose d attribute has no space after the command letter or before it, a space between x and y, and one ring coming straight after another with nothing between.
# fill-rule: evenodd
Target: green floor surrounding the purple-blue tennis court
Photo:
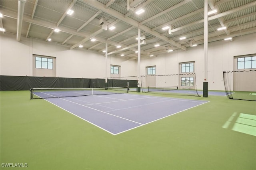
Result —
<instances>
[{"instance_id":1,"label":"green floor surrounding the purple-blue tennis court","mask_svg":"<svg viewBox=\"0 0 256 170\"><path fill-rule=\"evenodd\" d=\"M256 102L186 98L210 102L114 136L29 91L1 91L0 168L255 170Z\"/></svg>"}]
</instances>

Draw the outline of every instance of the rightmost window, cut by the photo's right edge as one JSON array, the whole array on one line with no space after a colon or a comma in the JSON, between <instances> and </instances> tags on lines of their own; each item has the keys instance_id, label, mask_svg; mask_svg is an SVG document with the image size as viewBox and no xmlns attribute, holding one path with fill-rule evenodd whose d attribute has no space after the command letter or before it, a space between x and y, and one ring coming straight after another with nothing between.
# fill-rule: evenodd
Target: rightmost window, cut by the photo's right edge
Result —
<instances>
[{"instance_id":1,"label":"rightmost window, cut by the photo's right edge","mask_svg":"<svg viewBox=\"0 0 256 170\"><path fill-rule=\"evenodd\" d=\"M237 69L256 68L256 56L237 58Z\"/></svg>"}]
</instances>

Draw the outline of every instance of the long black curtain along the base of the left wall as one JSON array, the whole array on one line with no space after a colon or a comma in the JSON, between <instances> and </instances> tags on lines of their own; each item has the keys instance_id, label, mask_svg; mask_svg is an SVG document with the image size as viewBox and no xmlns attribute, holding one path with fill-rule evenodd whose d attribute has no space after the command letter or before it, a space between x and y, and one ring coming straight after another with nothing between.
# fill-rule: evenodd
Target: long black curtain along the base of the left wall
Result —
<instances>
[{"instance_id":1,"label":"long black curtain along the base of the left wall","mask_svg":"<svg viewBox=\"0 0 256 170\"><path fill-rule=\"evenodd\" d=\"M108 87L137 87L137 80L108 79ZM64 77L31 77L0 76L0 90L29 90L30 88L98 88L105 87L105 79L64 78Z\"/></svg>"}]
</instances>

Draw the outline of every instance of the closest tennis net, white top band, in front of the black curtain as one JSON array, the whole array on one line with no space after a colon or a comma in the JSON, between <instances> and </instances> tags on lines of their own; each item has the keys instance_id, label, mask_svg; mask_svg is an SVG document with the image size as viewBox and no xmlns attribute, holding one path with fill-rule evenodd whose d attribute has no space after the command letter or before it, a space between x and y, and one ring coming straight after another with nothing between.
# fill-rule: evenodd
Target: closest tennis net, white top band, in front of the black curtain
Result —
<instances>
[{"instance_id":1,"label":"closest tennis net, white top band, in front of the black curtain","mask_svg":"<svg viewBox=\"0 0 256 170\"><path fill-rule=\"evenodd\" d=\"M110 95L128 93L128 87L105 88L31 88L30 99L47 99L59 97L78 97L88 95Z\"/></svg>"}]
</instances>

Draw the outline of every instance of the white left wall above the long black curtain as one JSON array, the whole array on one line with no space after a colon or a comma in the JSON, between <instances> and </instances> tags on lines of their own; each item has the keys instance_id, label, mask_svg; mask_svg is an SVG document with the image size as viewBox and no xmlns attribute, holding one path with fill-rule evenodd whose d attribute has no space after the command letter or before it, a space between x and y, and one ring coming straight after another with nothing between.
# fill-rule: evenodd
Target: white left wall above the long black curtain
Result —
<instances>
[{"instance_id":1,"label":"white left wall above the long black curtain","mask_svg":"<svg viewBox=\"0 0 256 170\"><path fill-rule=\"evenodd\" d=\"M42 40L21 37L16 41L16 35L1 33L0 37L1 75L32 76L33 54L56 57L56 77L101 78L106 76L105 56L85 49L69 49L69 46L45 42ZM109 57L110 64L120 65L121 76L136 75L135 60L121 57Z\"/></svg>"}]
</instances>

